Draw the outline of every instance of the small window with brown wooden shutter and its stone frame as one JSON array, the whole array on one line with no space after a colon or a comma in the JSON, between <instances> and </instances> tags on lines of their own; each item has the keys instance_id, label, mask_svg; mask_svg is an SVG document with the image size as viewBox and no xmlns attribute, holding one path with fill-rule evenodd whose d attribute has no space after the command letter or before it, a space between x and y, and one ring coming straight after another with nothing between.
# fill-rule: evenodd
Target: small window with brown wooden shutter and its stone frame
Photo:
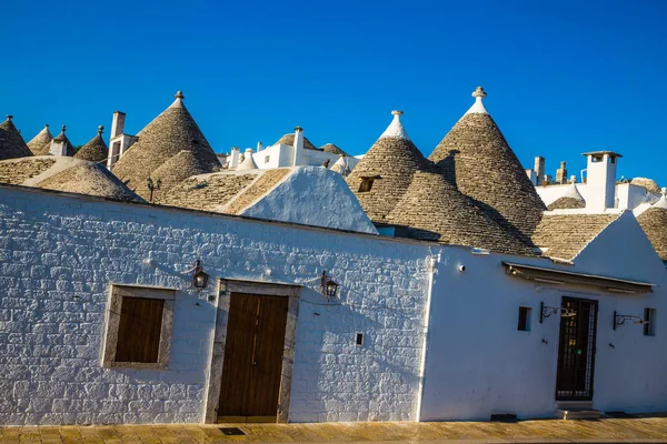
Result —
<instances>
[{"instance_id":1,"label":"small window with brown wooden shutter and its stone frame","mask_svg":"<svg viewBox=\"0 0 667 444\"><path fill-rule=\"evenodd\" d=\"M113 285L102 366L168 367L176 291Z\"/></svg>"}]
</instances>

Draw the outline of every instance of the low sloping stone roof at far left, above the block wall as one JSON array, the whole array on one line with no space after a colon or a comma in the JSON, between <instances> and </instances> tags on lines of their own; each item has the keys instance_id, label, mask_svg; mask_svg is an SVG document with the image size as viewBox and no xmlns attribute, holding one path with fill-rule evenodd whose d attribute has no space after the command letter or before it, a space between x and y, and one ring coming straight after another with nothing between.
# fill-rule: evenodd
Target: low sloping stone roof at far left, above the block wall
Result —
<instances>
[{"instance_id":1,"label":"low sloping stone roof at far left, above the block wall","mask_svg":"<svg viewBox=\"0 0 667 444\"><path fill-rule=\"evenodd\" d=\"M40 155L1 161L0 181L115 201L143 202L103 165L69 157Z\"/></svg>"}]
</instances>

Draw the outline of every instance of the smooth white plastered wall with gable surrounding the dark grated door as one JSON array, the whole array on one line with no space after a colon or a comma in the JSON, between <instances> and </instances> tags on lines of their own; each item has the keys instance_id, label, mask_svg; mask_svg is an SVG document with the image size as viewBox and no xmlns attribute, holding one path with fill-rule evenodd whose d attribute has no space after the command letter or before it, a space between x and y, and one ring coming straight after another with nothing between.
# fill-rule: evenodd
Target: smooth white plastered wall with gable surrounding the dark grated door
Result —
<instances>
[{"instance_id":1,"label":"smooth white plastered wall with gable surrounding the dark grated door","mask_svg":"<svg viewBox=\"0 0 667 444\"><path fill-rule=\"evenodd\" d=\"M502 260L647 281L658 287L651 294L619 295L536 284L508 276ZM459 264L466 265L464 273ZM552 416L560 322L552 316L540 324L539 303L560 306L563 296L599 301L594 408L666 410L666 273L629 212L591 242L575 266L442 250L431 299L421 421L488 420L495 413ZM532 309L530 332L517 330L519 306ZM643 316L645 307L657 309L655 337L644 336L635 324L613 331L614 310Z\"/></svg>"}]
</instances>

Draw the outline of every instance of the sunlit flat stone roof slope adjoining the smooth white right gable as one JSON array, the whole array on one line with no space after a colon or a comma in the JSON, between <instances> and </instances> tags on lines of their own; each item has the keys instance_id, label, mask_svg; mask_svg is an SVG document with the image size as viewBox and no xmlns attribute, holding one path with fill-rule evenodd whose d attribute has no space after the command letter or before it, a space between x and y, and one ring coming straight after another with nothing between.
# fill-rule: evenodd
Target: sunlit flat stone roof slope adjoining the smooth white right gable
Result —
<instances>
[{"instance_id":1,"label":"sunlit flat stone roof slope adjoining the smooth white right gable","mask_svg":"<svg viewBox=\"0 0 667 444\"><path fill-rule=\"evenodd\" d=\"M545 214L532 242L544 255L570 261L620 214Z\"/></svg>"}]
</instances>

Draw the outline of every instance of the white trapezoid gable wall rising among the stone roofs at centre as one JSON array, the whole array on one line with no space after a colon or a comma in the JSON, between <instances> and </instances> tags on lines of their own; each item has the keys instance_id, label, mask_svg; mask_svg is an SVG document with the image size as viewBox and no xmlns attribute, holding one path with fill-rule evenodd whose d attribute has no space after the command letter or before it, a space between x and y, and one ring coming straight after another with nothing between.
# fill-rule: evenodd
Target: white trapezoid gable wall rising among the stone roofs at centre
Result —
<instances>
[{"instance_id":1,"label":"white trapezoid gable wall rising among the stone roofs at centre","mask_svg":"<svg viewBox=\"0 0 667 444\"><path fill-rule=\"evenodd\" d=\"M322 167L293 168L286 180L241 214L272 221L378 233L342 175Z\"/></svg>"}]
</instances>

